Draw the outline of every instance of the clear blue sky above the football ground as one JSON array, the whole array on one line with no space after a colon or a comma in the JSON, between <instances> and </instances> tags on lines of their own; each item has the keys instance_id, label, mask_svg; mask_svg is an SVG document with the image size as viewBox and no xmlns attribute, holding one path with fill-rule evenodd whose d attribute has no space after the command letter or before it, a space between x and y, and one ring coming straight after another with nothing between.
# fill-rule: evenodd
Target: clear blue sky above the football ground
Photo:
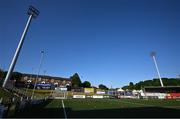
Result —
<instances>
[{"instance_id":1,"label":"clear blue sky above the football ground","mask_svg":"<svg viewBox=\"0 0 180 119\"><path fill-rule=\"evenodd\" d=\"M180 74L179 0L0 0L0 67L7 70L29 5L33 19L15 70L70 77L121 87L153 79L157 52L162 77ZM32 68L34 69L32 71Z\"/></svg>"}]
</instances>

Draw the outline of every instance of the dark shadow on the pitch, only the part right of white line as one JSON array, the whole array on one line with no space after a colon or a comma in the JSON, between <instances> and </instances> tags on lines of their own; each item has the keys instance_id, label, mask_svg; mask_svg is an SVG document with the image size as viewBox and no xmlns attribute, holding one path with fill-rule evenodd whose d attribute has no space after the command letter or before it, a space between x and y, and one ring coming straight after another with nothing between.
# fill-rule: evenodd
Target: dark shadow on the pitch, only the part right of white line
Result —
<instances>
[{"instance_id":1,"label":"dark shadow on the pitch, only the part right of white line","mask_svg":"<svg viewBox=\"0 0 180 119\"><path fill-rule=\"evenodd\" d=\"M161 107L137 107L137 108L120 108L120 109L103 109L103 110L81 110L72 111L66 109L67 116L71 118L167 118L180 117L180 109L170 109Z\"/></svg>"}]
</instances>

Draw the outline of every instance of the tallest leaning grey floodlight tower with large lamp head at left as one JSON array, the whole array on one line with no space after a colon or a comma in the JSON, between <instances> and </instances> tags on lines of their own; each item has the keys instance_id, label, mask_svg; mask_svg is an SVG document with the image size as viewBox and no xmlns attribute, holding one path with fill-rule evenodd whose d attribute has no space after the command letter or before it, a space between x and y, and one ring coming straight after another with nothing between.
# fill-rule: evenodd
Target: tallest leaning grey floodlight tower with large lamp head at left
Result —
<instances>
[{"instance_id":1,"label":"tallest leaning grey floodlight tower with large lamp head at left","mask_svg":"<svg viewBox=\"0 0 180 119\"><path fill-rule=\"evenodd\" d=\"M24 28L23 34L22 34L21 39L19 41L19 44L18 44L18 47L17 47L16 52L14 54L14 57L13 57L13 59L11 61L10 66L9 66L8 73L6 75L6 78L5 78L4 82L3 82L2 87L5 87L7 80L9 80L11 75L12 75L12 72L13 72L14 67L16 65L16 61L18 59L20 50L22 48L22 45L23 45L23 42L24 42L24 39L25 39L25 36L26 36L28 28L30 26L31 20L32 20L32 18L36 18L39 15L39 11L36 8L34 8L33 6L29 6L27 14L29 15L28 21L27 21L26 26Z\"/></svg>"}]
</instances>

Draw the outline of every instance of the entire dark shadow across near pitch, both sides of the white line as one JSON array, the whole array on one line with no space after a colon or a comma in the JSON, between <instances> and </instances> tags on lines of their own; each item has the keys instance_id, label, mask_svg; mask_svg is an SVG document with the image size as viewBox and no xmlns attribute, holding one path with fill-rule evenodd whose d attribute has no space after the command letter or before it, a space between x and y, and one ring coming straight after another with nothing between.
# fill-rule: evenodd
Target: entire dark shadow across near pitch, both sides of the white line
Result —
<instances>
[{"instance_id":1,"label":"entire dark shadow across near pitch, both sides of the white line","mask_svg":"<svg viewBox=\"0 0 180 119\"><path fill-rule=\"evenodd\" d=\"M52 100L40 105L28 107L23 112L16 113L15 117L24 118L64 118L63 108L45 108ZM180 117L180 109L162 107L136 107L101 110L72 110L66 108L67 118L172 118Z\"/></svg>"}]
</instances>

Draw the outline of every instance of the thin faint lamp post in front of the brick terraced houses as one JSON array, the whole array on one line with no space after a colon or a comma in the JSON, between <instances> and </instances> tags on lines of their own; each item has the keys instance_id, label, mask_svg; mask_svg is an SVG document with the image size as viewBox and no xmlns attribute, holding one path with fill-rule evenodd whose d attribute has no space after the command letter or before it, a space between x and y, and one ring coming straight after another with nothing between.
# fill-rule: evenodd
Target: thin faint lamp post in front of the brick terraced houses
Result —
<instances>
[{"instance_id":1,"label":"thin faint lamp post in front of the brick terraced houses","mask_svg":"<svg viewBox=\"0 0 180 119\"><path fill-rule=\"evenodd\" d=\"M35 83L34 83L34 88L33 88L33 92L32 92L31 99L33 99L33 98L34 98L34 91L35 91L36 84L37 84L37 80L38 80L38 77L39 77L39 72L40 72L40 69L41 69L43 56L44 56L44 51L41 51L41 59L40 59L40 62L39 62L38 73L37 73L37 76L36 76L36 79L35 79Z\"/></svg>"}]
</instances>

